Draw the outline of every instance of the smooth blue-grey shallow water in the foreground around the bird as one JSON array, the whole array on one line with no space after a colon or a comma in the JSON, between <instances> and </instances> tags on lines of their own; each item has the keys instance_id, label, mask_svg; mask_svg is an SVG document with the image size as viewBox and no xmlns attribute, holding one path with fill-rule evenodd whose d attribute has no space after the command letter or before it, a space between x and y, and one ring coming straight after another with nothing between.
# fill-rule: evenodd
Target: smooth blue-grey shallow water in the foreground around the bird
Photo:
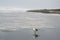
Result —
<instances>
[{"instance_id":1,"label":"smooth blue-grey shallow water in the foreground around the bird","mask_svg":"<svg viewBox=\"0 0 60 40\"><path fill-rule=\"evenodd\" d=\"M38 40L59 40L60 29L39 30ZM20 29L14 32L0 32L0 40L33 40L33 31L31 29Z\"/></svg>"}]
</instances>

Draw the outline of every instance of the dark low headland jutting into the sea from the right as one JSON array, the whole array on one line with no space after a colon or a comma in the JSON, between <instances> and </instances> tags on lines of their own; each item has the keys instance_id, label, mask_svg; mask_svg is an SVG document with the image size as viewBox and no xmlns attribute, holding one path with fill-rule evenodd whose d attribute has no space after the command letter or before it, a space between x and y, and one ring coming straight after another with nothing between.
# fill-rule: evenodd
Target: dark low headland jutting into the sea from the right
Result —
<instances>
[{"instance_id":1,"label":"dark low headland jutting into the sea from the right","mask_svg":"<svg viewBox=\"0 0 60 40\"><path fill-rule=\"evenodd\" d=\"M27 12L38 12L38 13L56 13L60 14L60 9L41 9L41 10L27 10Z\"/></svg>"}]
</instances>

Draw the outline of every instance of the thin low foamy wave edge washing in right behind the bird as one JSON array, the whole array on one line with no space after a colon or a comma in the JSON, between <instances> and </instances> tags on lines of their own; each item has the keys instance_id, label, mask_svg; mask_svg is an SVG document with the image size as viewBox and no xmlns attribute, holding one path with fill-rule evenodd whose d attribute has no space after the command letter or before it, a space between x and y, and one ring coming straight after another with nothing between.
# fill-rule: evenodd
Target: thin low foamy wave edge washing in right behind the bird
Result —
<instances>
[{"instance_id":1,"label":"thin low foamy wave edge washing in right behind the bird","mask_svg":"<svg viewBox=\"0 0 60 40\"><path fill-rule=\"evenodd\" d=\"M33 29L33 28L38 28L38 29L55 29L56 27L47 27L47 26L40 26L40 27L0 27L0 31L1 32L16 32L16 31L20 31L20 29Z\"/></svg>"}]
</instances>

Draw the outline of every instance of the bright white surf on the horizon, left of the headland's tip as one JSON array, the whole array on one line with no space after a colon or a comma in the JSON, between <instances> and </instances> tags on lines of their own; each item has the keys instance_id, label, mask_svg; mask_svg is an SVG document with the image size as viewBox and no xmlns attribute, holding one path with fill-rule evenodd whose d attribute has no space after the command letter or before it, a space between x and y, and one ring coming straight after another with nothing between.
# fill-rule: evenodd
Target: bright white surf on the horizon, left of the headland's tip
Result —
<instances>
[{"instance_id":1,"label":"bright white surf on the horizon, left of the headland's tip","mask_svg":"<svg viewBox=\"0 0 60 40\"><path fill-rule=\"evenodd\" d=\"M26 8L0 7L0 13L26 12Z\"/></svg>"}]
</instances>

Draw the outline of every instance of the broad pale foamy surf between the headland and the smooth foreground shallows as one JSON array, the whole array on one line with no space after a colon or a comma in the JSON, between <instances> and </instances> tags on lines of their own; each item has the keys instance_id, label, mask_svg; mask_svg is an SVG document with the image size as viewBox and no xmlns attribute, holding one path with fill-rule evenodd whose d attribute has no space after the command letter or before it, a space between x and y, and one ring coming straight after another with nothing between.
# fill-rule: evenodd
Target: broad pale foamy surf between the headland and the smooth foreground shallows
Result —
<instances>
[{"instance_id":1,"label":"broad pale foamy surf between the headland and the smooth foreground shallows","mask_svg":"<svg viewBox=\"0 0 60 40\"><path fill-rule=\"evenodd\" d=\"M0 31L19 31L20 28L56 28L60 26L60 15L38 13L0 14Z\"/></svg>"}]
</instances>

